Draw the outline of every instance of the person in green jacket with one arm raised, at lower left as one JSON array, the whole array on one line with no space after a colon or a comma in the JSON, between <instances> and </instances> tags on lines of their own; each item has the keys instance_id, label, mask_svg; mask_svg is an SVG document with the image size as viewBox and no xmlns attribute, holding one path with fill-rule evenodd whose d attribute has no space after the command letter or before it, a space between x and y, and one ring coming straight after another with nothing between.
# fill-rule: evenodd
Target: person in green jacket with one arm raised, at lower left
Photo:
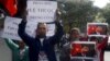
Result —
<instances>
[{"instance_id":1,"label":"person in green jacket with one arm raised, at lower left","mask_svg":"<svg viewBox=\"0 0 110 61\"><path fill-rule=\"evenodd\" d=\"M12 50L12 61L29 61L29 48L23 41L16 45L11 39L6 39L8 47Z\"/></svg>"}]
</instances>

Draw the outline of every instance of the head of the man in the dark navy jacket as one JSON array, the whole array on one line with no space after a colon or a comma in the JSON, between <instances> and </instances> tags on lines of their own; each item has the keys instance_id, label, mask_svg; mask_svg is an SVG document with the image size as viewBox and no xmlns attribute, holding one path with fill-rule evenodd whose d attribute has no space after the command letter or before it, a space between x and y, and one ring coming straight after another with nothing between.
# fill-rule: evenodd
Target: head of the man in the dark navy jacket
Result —
<instances>
[{"instance_id":1,"label":"head of the man in the dark navy jacket","mask_svg":"<svg viewBox=\"0 0 110 61\"><path fill-rule=\"evenodd\" d=\"M44 37L46 36L47 25L46 23L38 23L36 28L36 35Z\"/></svg>"}]
</instances>

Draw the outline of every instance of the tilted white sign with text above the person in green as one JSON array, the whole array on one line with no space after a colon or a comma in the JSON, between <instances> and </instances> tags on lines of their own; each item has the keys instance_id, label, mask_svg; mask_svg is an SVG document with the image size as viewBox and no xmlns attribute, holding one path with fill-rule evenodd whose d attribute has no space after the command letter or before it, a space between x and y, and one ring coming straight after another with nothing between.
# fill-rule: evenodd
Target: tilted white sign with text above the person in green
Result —
<instances>
[{"instance_id":1,"label":"tilted white sign with text above the person in green","mask_svg":"<svg viewBox=\"0 0 110 61\"><path fill-rule=\"evenodd\" d=\"M18 36L18 25L21 22L21 20L22 19L7 16L4 20L4 29L2 37L20 40L20 37Z\"/></svg>"}]
</instances>

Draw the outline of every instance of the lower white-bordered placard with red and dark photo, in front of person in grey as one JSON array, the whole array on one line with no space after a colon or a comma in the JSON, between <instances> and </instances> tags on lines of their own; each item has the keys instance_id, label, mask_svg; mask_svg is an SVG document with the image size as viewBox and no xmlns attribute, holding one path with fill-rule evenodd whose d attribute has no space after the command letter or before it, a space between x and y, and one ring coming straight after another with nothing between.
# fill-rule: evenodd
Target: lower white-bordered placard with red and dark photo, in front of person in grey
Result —
<instances>
[{"instance_id":1,"label":"lower white-bordered placard with red and dark photo, in front of person in grey","mask_svg":"<svg viewBox=\"0 0 110 61\"><path fill-rule=\"evenodd\" d=\"M96 41L73 41L70 44L70 61L90 60L97 57Z\"/></svg>"}]
</instances>

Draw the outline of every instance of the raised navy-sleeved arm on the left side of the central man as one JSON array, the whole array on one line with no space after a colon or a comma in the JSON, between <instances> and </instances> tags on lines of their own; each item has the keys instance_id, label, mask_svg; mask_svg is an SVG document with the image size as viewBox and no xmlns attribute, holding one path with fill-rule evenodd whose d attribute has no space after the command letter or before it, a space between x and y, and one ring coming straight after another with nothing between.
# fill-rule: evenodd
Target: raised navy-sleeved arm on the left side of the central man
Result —
<instances>
[{"instance_id":1,"label":"raised navy-sleeved arm on the left side of the central man","mask_svg":"<svg viewBox=\"0 0 110 61\"><path fill-rule=\"evenodd\" d=\"M22 20L19 24L18 34L22 38L22 40L28 45L32 45L33 38L25 33L26 21Z\"/></svg>"}]
</instances>

